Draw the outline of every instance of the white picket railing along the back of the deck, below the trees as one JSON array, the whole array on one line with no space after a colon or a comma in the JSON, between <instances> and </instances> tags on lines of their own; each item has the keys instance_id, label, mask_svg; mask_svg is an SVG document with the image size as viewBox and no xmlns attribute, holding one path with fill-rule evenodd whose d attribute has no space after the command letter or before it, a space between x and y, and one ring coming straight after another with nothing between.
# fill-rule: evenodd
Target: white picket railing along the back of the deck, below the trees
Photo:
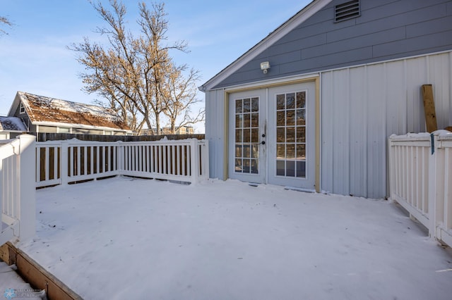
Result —
<instances>
[{"instance_id":1,"label":"white picket railing along the back of the deck, below the trees","mask_svg":"<svg viewBox=\"0 0 452 300\"><path fill-rule=\"evenodd\" d=\"M114 175L196 183L208 178L208 141L36 143L36 187Z\"/></svg>"}]
</instances>

